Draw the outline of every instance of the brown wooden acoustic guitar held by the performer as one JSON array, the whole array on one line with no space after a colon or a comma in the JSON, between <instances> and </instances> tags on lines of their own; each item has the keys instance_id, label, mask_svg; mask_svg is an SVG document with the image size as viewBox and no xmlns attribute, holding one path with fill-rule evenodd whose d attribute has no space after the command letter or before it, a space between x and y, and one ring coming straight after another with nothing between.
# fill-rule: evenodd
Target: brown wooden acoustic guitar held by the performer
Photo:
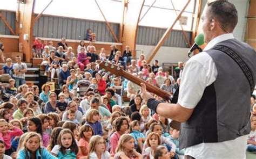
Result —
<instances>
[{"instance_id":1,"label":"brown wooden acoustic guitar held by the performer","mask_svg":"<svg viewBox=\"0 0 256 159\"><path fill-rule=\"evenodd\" d=\"M166 91L158 88L157 86L149 84L149 83L145 82L143 79L140 79L136 76L133 76L132 74L123 70L121 67L117 66L116 64L112 64L111 62L100 61L100 60L97 60L96 63L99 64L99 69L104 71L108 75L112 75L112 77L122 76L122 77L128 79L129 81L139 85L139 86L140 86L140 83L144 83L146 85L147 91L152 92L152 93L154 93L154 94L156 94L156 95L158 95L158 96L160 96L160 97L162 97L165 100L170 102L171 95L170 95L169 92L166 92ZM174 94L174 96L175 96L175 94ZM171 103L173 103L173 102L171 102ZM172 120L171 123L170 123L170 126L174 129L179 130L180 129L180 122Z\"/></svg>"}]
</instances>

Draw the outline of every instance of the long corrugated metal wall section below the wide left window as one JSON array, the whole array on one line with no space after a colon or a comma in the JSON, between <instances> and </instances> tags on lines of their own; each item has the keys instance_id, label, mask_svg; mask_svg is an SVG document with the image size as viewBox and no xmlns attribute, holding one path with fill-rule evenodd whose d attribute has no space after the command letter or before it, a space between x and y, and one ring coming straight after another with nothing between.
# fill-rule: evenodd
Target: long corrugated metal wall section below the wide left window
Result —
<instances>
[{"instance_id":1,"label":"long corrugated metal wall section below the wide left window","mask_svg":"<svg viewBox=\"0 0 256 159\"><path fill-rule=\"evenodd\" d=\"M111 23L110 26L118 37L119 24ZM88 28L97 33L97 41L116 42L104 22L82 19L42 16L36 22L33 33L36 37L82 40Z\"/></svg>"}]
</instances>

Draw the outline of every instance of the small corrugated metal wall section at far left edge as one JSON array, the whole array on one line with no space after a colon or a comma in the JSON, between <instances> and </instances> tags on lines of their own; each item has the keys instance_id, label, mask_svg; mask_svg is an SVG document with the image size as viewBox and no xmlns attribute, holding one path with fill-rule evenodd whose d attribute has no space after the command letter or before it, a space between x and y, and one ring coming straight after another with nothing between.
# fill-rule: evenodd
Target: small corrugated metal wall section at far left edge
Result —
<instances>
[{"instance_id":1,"label":"small corrugated metal wall section at far left edge","mask_svg":"<svg viewBox=\"0 0 256 159\"><path fill-rule=\"evenodd\" d=\"M16 17L15 12L0 11L0 13L2 13L2 16L8 21L12 30L14 30L15 32L15 17ZM0 18L0 34L12 35L9 28L4 24L4 21L2 20L2 18Z\"/></svg>"}]
</instances>

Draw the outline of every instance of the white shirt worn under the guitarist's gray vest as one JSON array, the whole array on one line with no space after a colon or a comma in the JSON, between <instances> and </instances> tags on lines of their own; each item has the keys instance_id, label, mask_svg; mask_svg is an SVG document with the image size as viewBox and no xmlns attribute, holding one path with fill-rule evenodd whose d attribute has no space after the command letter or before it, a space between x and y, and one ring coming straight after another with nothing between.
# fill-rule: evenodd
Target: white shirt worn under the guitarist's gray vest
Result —
<instances>
[{"instance_id":1,"label":"white shirt worn under the guitarist's gray vest","mask_svg":"<svg viewBox=\"0 0 256 159\"><path fill-rule=\"evenodd\" d=\"M221 41L233 38L233 34L220 35L212 39L204 50L211 49ZM203 96L206 86L211 85L217 75L215 63L206 52L191 57L183 70L178 103L187 109L194 109ZM218 143L200 143L185 148L185 155L194 158L245 158L247 136Z\"/></svg>"}]
</instances>

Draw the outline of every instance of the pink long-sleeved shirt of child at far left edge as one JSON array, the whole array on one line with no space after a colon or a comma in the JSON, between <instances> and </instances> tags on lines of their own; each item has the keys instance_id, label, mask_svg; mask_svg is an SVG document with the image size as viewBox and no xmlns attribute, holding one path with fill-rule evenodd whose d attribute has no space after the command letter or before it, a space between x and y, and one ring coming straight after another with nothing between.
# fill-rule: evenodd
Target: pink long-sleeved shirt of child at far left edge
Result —
<instances>
[{"instance_id":1,"label":"pink long-sleeved shirt of child at far left edge","mask_svg":"<svg viewBox=\"0 0 256 159\"><path fill-rule=\"evenodd\" d=\"M14 127L13 131L8 131L4 136L0 133L0 139L4 141L5 149L11 148L11 139L14 136L21 136L23 131L17 127Z\"/></svg>"}]
</instances>

